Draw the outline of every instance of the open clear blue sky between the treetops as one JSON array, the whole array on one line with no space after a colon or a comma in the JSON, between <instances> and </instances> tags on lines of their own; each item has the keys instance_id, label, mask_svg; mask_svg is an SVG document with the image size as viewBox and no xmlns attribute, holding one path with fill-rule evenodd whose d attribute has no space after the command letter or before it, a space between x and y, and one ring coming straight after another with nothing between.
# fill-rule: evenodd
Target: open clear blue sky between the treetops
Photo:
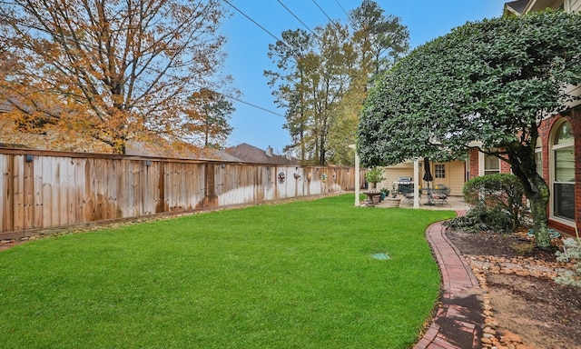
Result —
<instances>
[{"instance_id":1,"label":"open clear blue sky between the treetops","mask_svg":"<svg viewBox=\"0 0 581 349\"><path fill-rule=\"evenodd\" d=\"M236 112L231 115L230 124L234 128L228 145L247 143L266 149L271 146L276 154L281 154L291 137L282 128L284 109L274 105L271 88L262 75L264 70L273 70L275 65L268 58L268 45L285 30L297 28L307 30L287 11L278 0L229 0L245 15L261 25L255 25L230 5L223 3L232 15L222 25L222 34L228 39L224 49L228 57L224 73L232 75L234 85L241 90L241 100L258 105L275 114L240 102L234 102ZM432 39L446 35L458 25L494 18L502 15L506 0L376 0L383 8L384 15L399 16L409 29L410 46L416 47ZM313 29L333 20L347 23L345 12L358 7L360 0L281 0L294 15ZM322 11L320 10L322 8ZM324 13L323 13L324 11Z\"/></svg>"}]
</instances>

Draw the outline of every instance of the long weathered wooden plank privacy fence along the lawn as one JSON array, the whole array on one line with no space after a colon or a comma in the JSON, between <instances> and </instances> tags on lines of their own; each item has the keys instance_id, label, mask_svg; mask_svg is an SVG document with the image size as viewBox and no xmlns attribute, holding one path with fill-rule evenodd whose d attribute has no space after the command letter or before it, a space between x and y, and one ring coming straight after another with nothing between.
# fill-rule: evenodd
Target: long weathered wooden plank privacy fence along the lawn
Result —
<instances>
[{"instance_id":1,"label":"long weathered wooden plank privacy fence along the lawn","mask_svg":"<svg viewBox=\"0 0 581 349\"><path fill-rule=\"evenodd\" d=\"M2 148L0 173L0 239L75 224L351 191L355 179L352 167Z\"/></svg>"}]
</instances>

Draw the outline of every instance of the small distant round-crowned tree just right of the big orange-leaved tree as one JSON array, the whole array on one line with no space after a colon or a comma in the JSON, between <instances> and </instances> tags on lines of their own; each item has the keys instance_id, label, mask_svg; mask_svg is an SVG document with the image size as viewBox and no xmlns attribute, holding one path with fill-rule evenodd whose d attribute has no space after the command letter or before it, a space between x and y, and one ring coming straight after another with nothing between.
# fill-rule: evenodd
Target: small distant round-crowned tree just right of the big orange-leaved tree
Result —
<instances>
[{"instance_id":1,"label":"small distant round-crowned tree just right of the big orange-leaved tree","mask_svg":"<svg viewBox=\"0 0 581 349\"><path fill-rule=\"evenodd\" d=\"M204 147L224 147L232 128L228 124L230 115L235 111L231 101L209 89L193 93L188 99L190 104L184 110L186 115L183 127L187 134L194 135L192 143L202 139Z\"/></svg>"}]
</instances>

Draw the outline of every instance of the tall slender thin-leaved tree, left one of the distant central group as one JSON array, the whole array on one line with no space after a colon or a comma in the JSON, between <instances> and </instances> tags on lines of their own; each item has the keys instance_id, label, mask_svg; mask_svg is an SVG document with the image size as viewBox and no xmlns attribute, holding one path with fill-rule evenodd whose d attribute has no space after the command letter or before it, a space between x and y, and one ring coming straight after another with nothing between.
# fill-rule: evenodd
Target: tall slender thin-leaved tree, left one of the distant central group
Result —
<instances>
[{"instance_id":1,"label":"tall slender thin-leaved tree, left one of the distant central group","mask_svg":"<svg viewBox=\"0 0 581 349\"><path fill-rule=\"evenodd\" d=\"M287 107L287 127L302 160L317 165L327 161L330 127L335 108L347 91L349 67L354 58L350 33L345 25L330 23L315 28L314 35L287 31L284 42L270 45L277 71L265 71L275 87L277 103Z\"/></svg>"}]
</instances>

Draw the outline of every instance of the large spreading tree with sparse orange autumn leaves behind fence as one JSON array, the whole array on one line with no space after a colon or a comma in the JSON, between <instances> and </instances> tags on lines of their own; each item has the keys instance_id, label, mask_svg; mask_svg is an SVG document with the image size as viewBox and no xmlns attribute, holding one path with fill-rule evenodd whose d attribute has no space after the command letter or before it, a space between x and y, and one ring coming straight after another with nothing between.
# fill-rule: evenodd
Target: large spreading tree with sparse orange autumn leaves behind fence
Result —
<instances>
[{"instance_id":1,"label":"large spreading tree with sparse orange autumn leaves behind fence","mask_svg":"<svg viewBox=\"0 0 581 349\"><path fill-rule=\"evenodd\" d=\"M0 47L22 57L0 96L22 127L118 153L137 135L182 136L182 106L224 59L223 16L219 0L0 0Z\"/></svg>"}]
</instances>

